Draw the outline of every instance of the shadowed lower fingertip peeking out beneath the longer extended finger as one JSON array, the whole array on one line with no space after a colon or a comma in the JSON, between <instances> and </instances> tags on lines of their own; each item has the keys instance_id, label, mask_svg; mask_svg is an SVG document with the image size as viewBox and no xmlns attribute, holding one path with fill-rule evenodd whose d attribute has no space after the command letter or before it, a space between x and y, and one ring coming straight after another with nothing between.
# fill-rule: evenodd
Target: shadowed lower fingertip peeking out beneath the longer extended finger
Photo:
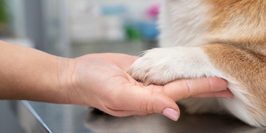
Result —
<instances>
[{"instance_id":1,"label":"shadowed lower fingertip peeking out beneath the longer extended finger","mask_svg":"<svg viewBox=\"0 0 266 133\"><path fill-rule=\"evenodd\" d=\"M210 93L205 93L205 94L201 94L201 95L196 95L196 96L192 96L192 97L196 97L196 98L205 98L205 97L217 97L217 98L232 98L234 96L234 94L229 90L221 90L218 92L210 92Z\"/></svg>"}]
</instances>

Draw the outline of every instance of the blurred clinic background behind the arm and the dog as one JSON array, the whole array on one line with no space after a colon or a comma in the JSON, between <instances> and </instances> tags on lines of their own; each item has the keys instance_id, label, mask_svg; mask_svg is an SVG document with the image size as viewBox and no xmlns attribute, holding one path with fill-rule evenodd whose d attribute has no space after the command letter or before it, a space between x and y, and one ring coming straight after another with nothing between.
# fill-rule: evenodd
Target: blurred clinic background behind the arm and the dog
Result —
<instances>
[{"instance_id":1,"label":"blurred clinic background behind the arm and the dog","mask_svg":"<svg viewBox=\"0 0 266 133\"><path fill-rule=\"evenodd\" d=\"M0 0L0 40L75 58L157 47L160 0ZM23 132L0 101L0 132Z\"/></svg>"}]
</instances>

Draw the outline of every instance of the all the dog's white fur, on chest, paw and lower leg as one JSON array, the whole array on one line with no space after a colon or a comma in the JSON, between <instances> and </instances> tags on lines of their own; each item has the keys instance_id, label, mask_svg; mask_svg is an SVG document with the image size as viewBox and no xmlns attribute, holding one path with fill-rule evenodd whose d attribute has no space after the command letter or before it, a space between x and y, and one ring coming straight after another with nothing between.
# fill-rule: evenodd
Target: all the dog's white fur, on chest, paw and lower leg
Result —
<instances>
[{"instance_id":1,"label":"all the dog's white fur, on chest, paw and lower leg","mask_svg":"<svg viewBox=\"0 0 266 133\"><path fill-rule=\"evenodd\" d=\"M180 100L190 113L228 113L252 126L266 126L260 118L253 118L247 110L252 105L245 97L241 82L219 72L210 63L204 51L195 46L203 45L209 25L208 5L196 0L165 0L159 19L160 46L145 52L130 68L131 76L139 81L164 85L180 78L221 77L234 94L232 99L192 98ZM190 46L190 47L173 47ZM193 47L191 47L193 46Z\"/></svg>"}]
</instances>

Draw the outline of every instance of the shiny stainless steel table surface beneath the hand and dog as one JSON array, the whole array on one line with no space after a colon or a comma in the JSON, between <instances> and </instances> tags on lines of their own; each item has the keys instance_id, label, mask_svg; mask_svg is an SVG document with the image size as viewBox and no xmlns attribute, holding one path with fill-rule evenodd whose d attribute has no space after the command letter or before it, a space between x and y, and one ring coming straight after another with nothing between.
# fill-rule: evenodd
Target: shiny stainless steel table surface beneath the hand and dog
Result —
<instances>
[{"instance_id":1,"label":"shiny stainless steel table surface beneath the hand and dog","mask_svg":"<svg viewBox=\"0 0 266 133\"><path fill-rule=\"evenodd\" d=\"M190 115L181 107L177 122L161 114L114 117L91 113L93 108L32 101L11 101L26 132L47 133L266 133L227 115Z\"/></svg>"}]
</instances>

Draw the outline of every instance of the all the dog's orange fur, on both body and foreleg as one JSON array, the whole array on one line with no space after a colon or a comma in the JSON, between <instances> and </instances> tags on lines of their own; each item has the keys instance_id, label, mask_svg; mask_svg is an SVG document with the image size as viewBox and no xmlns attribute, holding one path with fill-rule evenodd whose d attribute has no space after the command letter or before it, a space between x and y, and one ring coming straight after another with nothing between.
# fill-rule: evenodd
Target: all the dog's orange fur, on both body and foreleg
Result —
<instances>
[{"instance_id":1,"label":"all the dog's orange fur, on both body and foreleg","mask_svg":"<svg viewBox=\"0 0 266 133\"><path fill-rule=\"evenodd\" d=\"M266 1L205 0L212 4L211 23L202 48L214 66L240 81L256 119L266 118ZM227 45L223 45L227 44Z\"/></svg>"}]
</instances>

